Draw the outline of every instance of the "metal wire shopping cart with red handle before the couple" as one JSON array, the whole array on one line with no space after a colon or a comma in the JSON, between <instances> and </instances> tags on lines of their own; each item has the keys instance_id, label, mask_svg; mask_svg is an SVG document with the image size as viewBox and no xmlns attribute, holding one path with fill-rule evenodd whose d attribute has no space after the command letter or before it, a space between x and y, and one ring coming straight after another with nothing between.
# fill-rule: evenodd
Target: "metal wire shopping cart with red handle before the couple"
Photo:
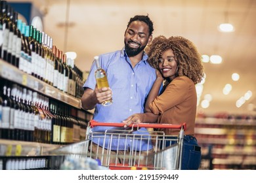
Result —
<instances>
[{"instance_id":1,"label":"metal wire shopping cart with red handle before the couple","mask_svg":"<svg viewBox=\"0 0 256 183\"><path fill-rule=\"evenodd\" d=\"M54 150L54 153L74 158L97 159L100 165L109 169L181 169L185 123L131 124L127 128L123 125L91 120L85 141L63 146ZM96 126L110 127L110 129L95 132L92 129ZM142 127L148 129L147 133L140 131ZM180 129L180 131L176 136L165 135L163 131L154 130L158 128ZM134 131L137 133L133 133ZM165 147L166 144L170 145ZM123 148L119 148L120 146Z\"/></svg>"}]
</instances>

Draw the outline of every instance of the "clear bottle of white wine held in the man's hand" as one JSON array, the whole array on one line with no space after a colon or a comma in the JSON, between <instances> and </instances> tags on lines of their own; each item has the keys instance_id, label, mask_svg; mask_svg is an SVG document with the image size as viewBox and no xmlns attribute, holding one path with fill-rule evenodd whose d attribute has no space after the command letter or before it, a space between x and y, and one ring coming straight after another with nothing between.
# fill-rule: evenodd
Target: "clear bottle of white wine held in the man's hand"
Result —
<instances>
[{"instance_id":1,"label":"clear bottle of white wine held in the man's hand","mask_svg":"<svg viewBox=\"0 0 256 183\"><path fill-rule=\"evenodd\" d=\"M95 78L97 82L97 87L98 88L104 88L104 87L109 87L108 85L108 78L106 76L106 72L104 69L100 67L100 61L98 60L98 56L95 56L95 62L96 62L96 71L95 71ZM102 105L104 106L109 106L112 105L113 100L110 99L108 101L104 101Z\"/></svg>"}]
</instances>

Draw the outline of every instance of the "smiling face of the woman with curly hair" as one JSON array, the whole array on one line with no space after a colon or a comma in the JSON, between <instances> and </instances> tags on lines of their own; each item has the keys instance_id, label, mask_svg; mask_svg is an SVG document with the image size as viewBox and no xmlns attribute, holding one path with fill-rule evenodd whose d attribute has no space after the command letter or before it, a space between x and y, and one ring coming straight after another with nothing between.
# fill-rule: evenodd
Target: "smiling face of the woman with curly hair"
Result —
<instances>
[{"instance_id":1,"label":"smiling face of the woman with curly hair","mask_svg":"<svg viewBox=\"0 0 256 183\"><path fill-rule=\"evenodd\" d=\"M158 58L158 68L164 78L173 80L177 73L177 61L173 54L173 50L168 49Z\"/></svg>"}]
</instances>

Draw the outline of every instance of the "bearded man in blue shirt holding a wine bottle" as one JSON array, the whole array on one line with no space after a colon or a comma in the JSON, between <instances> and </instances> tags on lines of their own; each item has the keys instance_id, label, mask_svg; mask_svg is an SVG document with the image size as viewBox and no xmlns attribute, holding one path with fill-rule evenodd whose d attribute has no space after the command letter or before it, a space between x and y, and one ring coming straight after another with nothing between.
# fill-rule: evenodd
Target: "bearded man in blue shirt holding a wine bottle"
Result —
<instances>
[{"instance_id":1,"label":"bearded man in blue shirt holding a wine bottle","mask_svg":"<svg viewBox=\"0 0 256 183\"><path fill-rule=\"evenodd\" d=\"M116 52L99 56L100 65L108 76L110 88L96 87L96 65L95 62L93 63L89 76L83 85L84 93L81 97L81 103L85 110L95 108L93 119L97 122L123 123L122 121L131 114L144 112L146 97L156 80L156 71L148 64L148 56L144 52L146 45L152 41L153 31L153 22L148 16L134 16L129 20L125 30L125 47ZM112 105L108 107L101 105L102 102L111 98L113 99ZM104 133L106 129L117 129L117 127L97 126L92 128L93 133ZM148 134L145 128L133 133ZM112 139L111 147L109 146L110 139L105 140L104 138L94 138L91 150L98 152L98 147L103 147L104 149L111 148L111 154L120 154L127 150L148 154L148 152L152 152L153 148L148 139L135 144L131 140L116 138Z\"/></svg>"}]
</instances>

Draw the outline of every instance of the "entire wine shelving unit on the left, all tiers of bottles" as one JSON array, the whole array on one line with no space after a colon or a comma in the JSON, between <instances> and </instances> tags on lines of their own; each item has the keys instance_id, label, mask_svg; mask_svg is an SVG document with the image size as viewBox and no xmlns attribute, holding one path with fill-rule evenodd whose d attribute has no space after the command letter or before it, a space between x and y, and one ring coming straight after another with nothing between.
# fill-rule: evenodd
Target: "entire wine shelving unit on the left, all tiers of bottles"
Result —
<instances>
[{"instance_id":1,"label":"entire wine shelving unit on the left, all tiers of bottles","mask_svg":"<svg viewBox=\"0 0 256 183\"><path fill-rule=\"evenodd\" d=\"M0 170L60 169L47 152L85 140L83 73L53 43L0 1Z\"/></svg>"}]
</instances>

